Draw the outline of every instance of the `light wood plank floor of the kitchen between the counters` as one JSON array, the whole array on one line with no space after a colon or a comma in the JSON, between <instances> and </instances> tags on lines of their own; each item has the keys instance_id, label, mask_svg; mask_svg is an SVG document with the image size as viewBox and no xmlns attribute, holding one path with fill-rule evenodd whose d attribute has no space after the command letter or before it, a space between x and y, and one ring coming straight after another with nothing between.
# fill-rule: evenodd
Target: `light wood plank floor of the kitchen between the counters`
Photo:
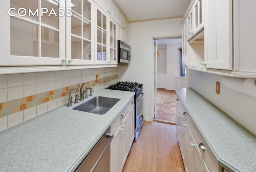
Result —
<instances>
[{"instance_id":1,"label":"light wood plank floor of the kitchen between the counters","mask_svg":"<svg viewBox=\"0 0 256 172\"><path fill-rule=\"evenodd\" d=\"M185 172L175 125L144 121L122 172Z\"/></svg>"}]
</instances>

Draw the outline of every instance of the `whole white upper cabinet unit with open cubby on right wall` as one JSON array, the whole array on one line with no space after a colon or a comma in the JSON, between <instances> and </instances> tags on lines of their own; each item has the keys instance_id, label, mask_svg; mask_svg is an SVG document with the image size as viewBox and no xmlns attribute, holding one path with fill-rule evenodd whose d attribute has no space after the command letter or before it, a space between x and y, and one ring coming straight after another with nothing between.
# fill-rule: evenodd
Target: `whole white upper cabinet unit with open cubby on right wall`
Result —
<instances>
[{"instance_id":1,"label":"whole white upper cabinet unit with open cubby on right wall","mask_svg":"<svg viewBox=\"0 0 256 172\"><path fill-rule=\"evenodd\" d=\"M255 0L193 0L181 23L182 58L185 63L187 53L188 68L256 78L254 6Z\"/></svg>"}]
</instances>

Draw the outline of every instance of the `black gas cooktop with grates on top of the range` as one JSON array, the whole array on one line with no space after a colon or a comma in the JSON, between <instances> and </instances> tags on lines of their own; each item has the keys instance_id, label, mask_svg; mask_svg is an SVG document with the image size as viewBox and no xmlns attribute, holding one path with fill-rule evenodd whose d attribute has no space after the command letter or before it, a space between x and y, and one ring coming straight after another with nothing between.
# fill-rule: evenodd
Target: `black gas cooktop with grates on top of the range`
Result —
<instances>
[{"instance_id":1,"label":"black gas cooktop with grates on top of the range","mask_svg":"<svg viewBox=\"0 0 256 172\"><path fill-rule=\"evenodd\" d=\"M138 84L138 82L130 82L130 81L119 81L116 84L110 85L106 89L110 90L122 90L122 91L133 91L136 92L137 98L142 92L142 84Z\"/></svg>"}]
</instances>

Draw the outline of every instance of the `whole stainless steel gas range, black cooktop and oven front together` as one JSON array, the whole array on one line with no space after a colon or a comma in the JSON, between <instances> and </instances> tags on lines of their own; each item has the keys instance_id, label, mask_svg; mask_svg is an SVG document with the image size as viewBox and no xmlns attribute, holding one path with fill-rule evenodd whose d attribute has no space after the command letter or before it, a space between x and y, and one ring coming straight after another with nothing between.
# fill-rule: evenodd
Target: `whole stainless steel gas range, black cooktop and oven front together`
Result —
<instances>
[{"instance_id":1,"label":"whole stainless steel gas range, black cooktop and oven front together","mask_svg":"<svg viewBox=\"0 0 256 172\"><path fill-rule=\"evenodd\" d=\"M127 82L127 81L122 81L118 82L116 84L110 85L106 89L111 89L111 90L122 90L122 91L133 91L135 92L134 96L134 102L135 102L135 120L134 120L134 134L135 138L134 141L136 142L138 139L138 135L140 133L140 128L142 127L144 117L143 117L143 85L138 84L137 82Z\"/></svg>"}]
</instances>

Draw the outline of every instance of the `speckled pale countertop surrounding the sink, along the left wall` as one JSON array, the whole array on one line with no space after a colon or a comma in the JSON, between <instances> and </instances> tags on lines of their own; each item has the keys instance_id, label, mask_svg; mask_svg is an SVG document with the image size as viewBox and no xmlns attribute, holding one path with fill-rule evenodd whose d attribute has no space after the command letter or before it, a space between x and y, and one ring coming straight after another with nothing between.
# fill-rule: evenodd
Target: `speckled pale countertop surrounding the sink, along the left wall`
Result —
<instances>
[{"instance_id":1,"label":"speckled pale countertop surrounding the sink, along the left wall","mask_svg":"<svg viewBox=\"0 0 256 172\"><path fill-rule=\"evenodd\" d=\"M79 101L0 132L0 172L74 171L134 92L102 89L94 96L120 100L104 115L72 110Z\"/></svg>"}]
</instances>

